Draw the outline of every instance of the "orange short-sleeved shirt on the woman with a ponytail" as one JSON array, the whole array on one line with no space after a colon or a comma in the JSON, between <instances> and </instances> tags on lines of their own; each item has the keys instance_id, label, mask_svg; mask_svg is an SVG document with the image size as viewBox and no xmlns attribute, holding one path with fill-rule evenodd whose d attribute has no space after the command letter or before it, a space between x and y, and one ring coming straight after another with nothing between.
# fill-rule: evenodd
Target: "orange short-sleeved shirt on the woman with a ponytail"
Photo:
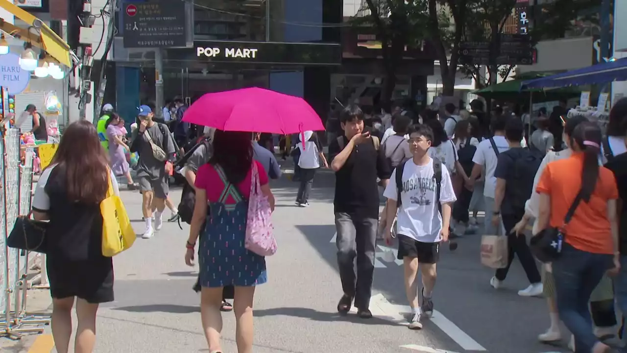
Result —
<instances>
[{"instance_id":1,"label":"orange short-sleeved shirt on the woman with a ponytail","mask_svg":"<svg viewBox=\"0 0 627 353\"><path fill-rule=\"evenodd\" d=\"M581 188L583 154L549 163L535 189L551 196L551 227L564 225L564 217ZM614 174L599 166L599 178L589 202L581 201L566 225L566 242L576 249L596 254L613 254L608 220L608 200L618 198Z\"/></svg>"}]
</instances>

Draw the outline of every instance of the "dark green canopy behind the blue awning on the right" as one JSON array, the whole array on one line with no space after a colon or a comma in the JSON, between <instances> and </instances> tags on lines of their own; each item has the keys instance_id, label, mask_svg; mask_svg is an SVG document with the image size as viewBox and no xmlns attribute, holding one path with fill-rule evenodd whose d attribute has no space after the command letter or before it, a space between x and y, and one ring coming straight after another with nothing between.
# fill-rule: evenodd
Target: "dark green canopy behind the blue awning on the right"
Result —
<instances>
[{"instance_id":1,"label":"dark green canopy behind the blue awning on the right","mask_svg":"<svg viewBox=\"0 0 627 353\"><path fill-rule=\"evenodd\" d=\"M484 89L475 90L473 93L488 99L498 99L506 102L520 101L524 103L528 103L529 99L533 99L534 102L545 102L581 94L581 90L571 87L552 90L541 88L527 89L523 86L524 82L525 80L509 80L500 84L490 85Z\"/></svg>"}]
</instances>

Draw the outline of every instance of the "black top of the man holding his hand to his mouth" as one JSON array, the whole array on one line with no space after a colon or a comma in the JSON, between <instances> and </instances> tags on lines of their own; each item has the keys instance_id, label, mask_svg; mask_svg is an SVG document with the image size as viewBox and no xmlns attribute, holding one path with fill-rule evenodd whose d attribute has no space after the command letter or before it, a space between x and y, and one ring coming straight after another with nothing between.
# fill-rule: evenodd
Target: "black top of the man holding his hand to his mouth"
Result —
<instances>
[{"instance_id":1,"label":"black top of the man holding his hand to his mouth","mask_svg":"<svg viewBox=\"0 0 627 353\"><path fill-rule=\"evenodd\" d=\"M342 138L344 146L341 149L337 139L331 141L330 160L349 143L346 136ZM356 217L378 218L377 176L387 180L391 174L385 156L377 151L372 141L355 146L344 166L335 173L335 213L345 212Z\"/></svg>"}]
</instances>

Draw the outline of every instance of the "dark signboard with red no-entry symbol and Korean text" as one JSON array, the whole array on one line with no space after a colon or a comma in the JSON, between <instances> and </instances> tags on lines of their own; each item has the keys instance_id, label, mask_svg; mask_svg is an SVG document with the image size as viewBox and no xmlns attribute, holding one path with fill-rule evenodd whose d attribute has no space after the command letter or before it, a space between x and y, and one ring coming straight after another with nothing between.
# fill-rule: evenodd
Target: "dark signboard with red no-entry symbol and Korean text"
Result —
<instances>
[{"instance_id":1,"label":"dark signboard with red no-entry symbol and Korean text","mask_svg":"<svg viewBox=\"0 0 627 353\"><path fill-rule=\"evenodd\" d=\"M122 3L125 48L186 46L186 9L181 1Z\"/></svg>"}]
</instances>

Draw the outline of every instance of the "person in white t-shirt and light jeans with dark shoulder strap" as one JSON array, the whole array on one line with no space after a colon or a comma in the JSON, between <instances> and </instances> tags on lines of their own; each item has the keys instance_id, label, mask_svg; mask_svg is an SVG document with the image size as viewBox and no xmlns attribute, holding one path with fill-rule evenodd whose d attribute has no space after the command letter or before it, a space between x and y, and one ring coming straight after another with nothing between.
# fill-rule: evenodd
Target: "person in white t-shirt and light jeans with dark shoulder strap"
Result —
<instances>
[{"instance_id":1,"label":"person in white t-shirt and light jeans with dark shoulder strap","mask_svg":"<svg viewBox=\"0 0 627 353\"><path fill-rule=\"evenodd\" d=\"M485 218L483 234L497 234L497 229L492 225L492 212L494 208L494 195L497 188L497 178L494 177L494 171L497 168L498 154L509 149L509 143L505 139L505 124L508 119L517 119L505 115L493 117L490 128L494 136L484 139L477 146L475 156L472 161L475 166L472 174L468 178L470 186L474 186L475 181L481 175L481 171L485 168L485 186L483 187L483 197L485 200Z\"/></svg>"}]
</instances>

